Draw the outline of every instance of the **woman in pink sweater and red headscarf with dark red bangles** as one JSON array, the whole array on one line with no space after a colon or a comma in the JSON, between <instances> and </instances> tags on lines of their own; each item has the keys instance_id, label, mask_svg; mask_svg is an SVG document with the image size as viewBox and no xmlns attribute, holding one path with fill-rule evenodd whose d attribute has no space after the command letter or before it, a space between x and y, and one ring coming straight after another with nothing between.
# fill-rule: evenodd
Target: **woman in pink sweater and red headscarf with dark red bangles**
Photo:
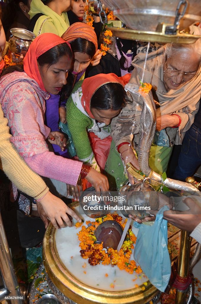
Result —
<instances>
[{"instance_id":1,"label":"woman in pink sweater and red headscarf with dark red bangles","mask_svg":"<svg viewBox=\"0 0 201 304\"><path fill-rule=\"evenodd\" d=\"M13 135L12 143L33 171L51 179L51 184L53 179L61 182L62 187L56 188L55 192L62 196L67 196L66 184L76 185L79 176L90 180L97 191L100 187L108 189L104 175L97 174L80 161L56 156L49 151L46 142L49 138L50 143L59 145L62 150L66 145L63 134L50 133L44 124L44 116L45 101L48 102L49 94L58 94L66 84L71 61L68 43L55 34L45 33L29 47L24 72L8 67L7 74L3 72L0 79L0 100ZM12 73L9 73L10 69Z\"/></svg>"}]
</instances>

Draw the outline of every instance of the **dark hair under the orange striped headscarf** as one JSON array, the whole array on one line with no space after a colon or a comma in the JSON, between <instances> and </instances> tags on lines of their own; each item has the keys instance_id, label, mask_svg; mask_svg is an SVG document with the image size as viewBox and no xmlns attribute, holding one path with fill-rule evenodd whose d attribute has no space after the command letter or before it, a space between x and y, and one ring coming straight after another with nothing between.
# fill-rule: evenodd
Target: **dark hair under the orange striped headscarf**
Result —
<instances>
[{"instance_id":1,"label":"dark hair under the orange striped headscarf","mask_svg":"<svg viewBox=\"0 0 201 304\"><path fill-rule=\"evenodd\" d=\"M77 38L71 41L70 46L73 53L86 53L90 58L92 58L96 52L94 43L84 38Z\"/></svg>"}]
</instances>

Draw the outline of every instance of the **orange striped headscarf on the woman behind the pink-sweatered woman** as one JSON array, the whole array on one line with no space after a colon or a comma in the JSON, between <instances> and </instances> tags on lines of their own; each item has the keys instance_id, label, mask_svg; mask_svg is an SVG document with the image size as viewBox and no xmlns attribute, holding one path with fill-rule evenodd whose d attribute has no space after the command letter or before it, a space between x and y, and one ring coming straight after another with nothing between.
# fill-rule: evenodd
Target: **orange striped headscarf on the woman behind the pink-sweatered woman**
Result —
<instances>
[{"instance_id":1,"label":"orange striped headscarf on the woman behind the pink-sweatered woman","mask_svg":"<svg viewBox=\"0 0 201 304\"><path fill-rule=\"evenodd\" d=\"M96 51L98 49L96 33L94 32L94 29L87 23L73 23L61 37L68 42L71 42L77 38L83 38L94 43Z\"/></svg>"}]
</instances>

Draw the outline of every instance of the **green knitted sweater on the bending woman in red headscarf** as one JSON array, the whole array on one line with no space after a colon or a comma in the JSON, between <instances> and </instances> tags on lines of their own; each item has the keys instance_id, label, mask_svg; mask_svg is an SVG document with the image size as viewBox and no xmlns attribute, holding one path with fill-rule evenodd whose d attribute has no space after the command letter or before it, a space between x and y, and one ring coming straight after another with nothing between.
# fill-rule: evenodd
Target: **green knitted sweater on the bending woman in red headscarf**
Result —
<instances>
[{"instance_id":1,"label":"green knitted sweater on the bending woman in red headscarf","mask_svg":"<svg viewBox=\"0 0 201 304\"><path fill-rule=\"evenodd\" d=\"M82 83L83 81L78 81L74 86L72 93L76 92L78 88L81 88ZM88 162L93 155L93 151L90 146L87 129L93 126L93 121L76 107L72 96L68 98L66 103L66 119L77 156L80 160Z\"/></svg>"}]
</instances>

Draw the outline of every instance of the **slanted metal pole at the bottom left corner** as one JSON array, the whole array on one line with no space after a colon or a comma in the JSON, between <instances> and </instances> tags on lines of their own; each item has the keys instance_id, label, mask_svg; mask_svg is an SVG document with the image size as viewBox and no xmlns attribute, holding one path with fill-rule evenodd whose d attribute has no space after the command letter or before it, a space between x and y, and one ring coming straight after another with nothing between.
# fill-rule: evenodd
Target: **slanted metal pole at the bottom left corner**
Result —
<instances>
[{"instance_id":1,"label":"slanted metal pole at the bottom left corner","mask_svg":"<svg viewBox=\"0 0 201 304\"><path fill-rule=\"evenodd\" d=\"M0 270L4 287L0 288L0 301L4 300L5 296L14 297L9 299L11 304L22 304L19 300L21 293L19 284L15 275L15 269L10 254L8 241L5 235L5 230L0 213Z\"/></svg>"}]
</instances>

